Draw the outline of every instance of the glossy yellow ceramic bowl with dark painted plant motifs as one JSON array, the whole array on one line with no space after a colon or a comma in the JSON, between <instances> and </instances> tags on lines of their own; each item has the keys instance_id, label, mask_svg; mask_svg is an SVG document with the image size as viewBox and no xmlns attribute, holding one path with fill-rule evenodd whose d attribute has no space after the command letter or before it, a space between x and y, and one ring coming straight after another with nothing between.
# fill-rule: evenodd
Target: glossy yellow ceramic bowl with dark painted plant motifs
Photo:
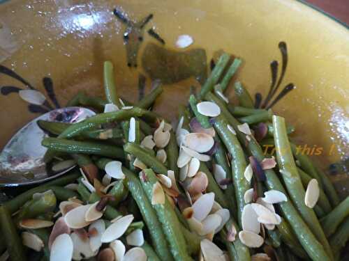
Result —
<instances>
[{"instance_id":1,"label":"glossy yellow ceramic bowl with dark painted plant motifs","mask_svg":"<svg viewBox=\"0 0 349 261\"><path fill-rule=\"evenodd\" d=\"M115 7L133 22L154 15L140 31L129 34L130 39L142 35L137 68L127 66L127 25L113 15ZM149 29L165 45L151 37ZM284 41L288 67L281 87L292 82L297 88L274 106L274 112L295 125L297 141L322 148L315 158L324 168L349 156L349 31L299 1L7 1L0 5L0 62L5 67L1 72L6 72L0 74L0 86L24 89L30 84L48 97L43 82L50 86L52 79L60 105L79 90L103 96L103 61L110 60L119 93L136 100L140 74L147 76L146 90L150 88L142 68L144 47L153 42L186 52L175 45L184 34L193 38L188 50L206 50L207 64L220 49L241 57L243 65L235 79L263 97L271 82L269 64L276 60L281 68L278 44ZM21 79L9 76L12 72ZM166 85L156 110L174 118L191 84L198 86L193 78ZM6 93L16 88L1 89L6 95L0 95L0 147L38 116L17 93Z\"/></svg>"}]
</instances>

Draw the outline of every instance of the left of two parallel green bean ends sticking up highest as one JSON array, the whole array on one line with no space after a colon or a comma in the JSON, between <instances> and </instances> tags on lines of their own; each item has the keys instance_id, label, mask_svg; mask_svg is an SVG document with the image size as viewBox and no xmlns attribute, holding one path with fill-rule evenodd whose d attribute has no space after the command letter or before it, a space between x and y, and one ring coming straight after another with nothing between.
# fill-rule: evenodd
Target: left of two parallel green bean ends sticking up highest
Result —
<instances>
[{"instance_id":1,"label":"left of two parallel green bean ends sticking up highest","mask_svg":"<svg viewBox=\"0 0 349 261\"><path fill-rule=\"evenodd\" d=\"M214 88L214 85L217 84L218 80L221 78L226 65L228 65L229 60L230 55L226 53L219 57L216 66L214 66L214 70L212 70L205 84L201 87L200 98L205 97L206 93L209 93Z\"/></svg>"}]
</instances>

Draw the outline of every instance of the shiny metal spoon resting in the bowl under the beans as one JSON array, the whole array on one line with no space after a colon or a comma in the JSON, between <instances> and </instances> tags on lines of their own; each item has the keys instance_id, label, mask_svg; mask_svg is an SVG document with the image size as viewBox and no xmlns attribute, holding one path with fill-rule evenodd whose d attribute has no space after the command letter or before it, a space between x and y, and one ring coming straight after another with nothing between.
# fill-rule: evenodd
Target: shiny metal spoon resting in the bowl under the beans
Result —
<instances>
[{"instance_id":1,"label":"shiny metal spoon resting in the bowl under the beans","mask_svg":"<svg viewBox=\"0 0 349 261\"><path fill-rule=\"evenodd\" d=\"M45 113L22 127L8 141L0 154L0 187L44 182L63 175L74 168L75 162L72 161L66 168L59 170L52 166L46 166L43 156L47 148L41 145L41 141L48 134L38 127L37 121L49 120L73 123L95 114L94 111L81 107L61 108Z\"/></svg>"}]
</instances>

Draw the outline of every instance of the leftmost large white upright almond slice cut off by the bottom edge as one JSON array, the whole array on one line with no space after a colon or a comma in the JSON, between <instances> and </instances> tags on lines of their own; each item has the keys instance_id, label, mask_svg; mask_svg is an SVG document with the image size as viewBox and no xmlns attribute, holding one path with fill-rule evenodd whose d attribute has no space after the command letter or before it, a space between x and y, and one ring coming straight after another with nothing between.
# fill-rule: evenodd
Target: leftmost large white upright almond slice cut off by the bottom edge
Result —
<instances>
[{"instance_id":1,"label":"leftmost large white upright almond slice cut off by the bottom edge","mask_svg":"<svg viewBox=\"0 0 349 261\"><path fill-rule=\"evenodd\" d=\"M52 243L50 261L70 261L73 258L73 241L68 234L61 234Z\"/></svg>"}]
</instances>

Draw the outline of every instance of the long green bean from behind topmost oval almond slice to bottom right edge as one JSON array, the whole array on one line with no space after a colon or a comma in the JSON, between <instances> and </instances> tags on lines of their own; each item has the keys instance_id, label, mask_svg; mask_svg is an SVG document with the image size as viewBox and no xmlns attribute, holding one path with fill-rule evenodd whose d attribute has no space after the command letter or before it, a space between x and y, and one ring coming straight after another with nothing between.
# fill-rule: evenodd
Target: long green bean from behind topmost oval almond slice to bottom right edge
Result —
<instances>
[{"instance_id":1,"label":"long green bean from behind topmost oval almond slice to bottom right edge","mask_svg":"<svg viewBox=\"0 0 349 261\"><path fill-rule=\"evenodd\" d=\"M237 128L237 125L240 123L229 113L225 104L223 104L223 102L212 93L206 95L206 100L215 102L220 107L221 114L225 116L229 124L235 129L239 141L243 145L246 145L246 149L251 153L251 155L253 155L253 157L258 161L262 161L265 158L265 155L263 154L260 145L253 139L247 141L246 135L240 132ZM283 189L283 184L281 184L279 178L272 169L265 170L265 175L267 177L266 184L268 189L275 189L286 194L285 189ZM290 200L279 203L279 205L283 212L283 216L285 216L288 222L290 222L299 242L302 244L304 250L309 254L309 256L313 258L313 260L330 260L327 253L324 251L324 248L318 242L308 226L306 226L306 223L304 223L303 219L299 216L297 209L295 209L292 203L290 203Z\"/></svg>"}]
</instances>

